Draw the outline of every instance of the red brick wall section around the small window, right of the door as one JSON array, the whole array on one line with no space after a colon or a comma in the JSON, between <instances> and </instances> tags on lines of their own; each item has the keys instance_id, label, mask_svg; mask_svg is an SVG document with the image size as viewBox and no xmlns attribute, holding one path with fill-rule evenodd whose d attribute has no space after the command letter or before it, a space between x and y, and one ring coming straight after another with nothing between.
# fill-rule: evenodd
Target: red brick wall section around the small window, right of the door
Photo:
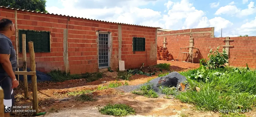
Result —
<instances>
[{"instance_id":1,"label":"red brick wall section around the small window, right of the door","mask_svg":"<svg viewBox=\"0 0 256 117\"><path fill-rule=\"evenodd\" d=\"M150 52L154 51L156 29L122 25L122 60L125 68L138 68L144 63L144 67L157 64L157 60L150 59ZM132 37L145 37L146 51L132 51Z\"/></svg>"}]
</instances>

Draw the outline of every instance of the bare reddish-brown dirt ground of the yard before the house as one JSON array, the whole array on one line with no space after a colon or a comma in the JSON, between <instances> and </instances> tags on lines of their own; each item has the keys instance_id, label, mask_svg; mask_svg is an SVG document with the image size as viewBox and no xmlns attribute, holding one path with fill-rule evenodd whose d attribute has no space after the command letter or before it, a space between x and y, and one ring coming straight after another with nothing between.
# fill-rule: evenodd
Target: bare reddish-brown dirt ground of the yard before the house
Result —
<instances>
[{"instance_id":1,"label":"bare reddish-brown dirt ground of the yard before the house","mask_svg":"<svg viewBox=\"0 0 256 117\"><path fill-rule=\"evenodd\" d=\"M164 61L158 60L158 63L170 63L170 71L185 71L188 69L195 69L199 67L199 64L178 62L178 61ZM149 73L148 71L157 70L154 67L143 68L142 71ZM123 93L122 91L115 90L113 88L105 90L97 90L92 92L95 101L79 102L75 100L75 97L65 95L71 91L81 90L94 90L99 85L107 85L111 81L117 79L117 72L103 71L105 76L98 81L87 83L85 79L69 80L64 82L52 83L42 82L37 84L38 100L39 100L39 112L46 112L44 117L108 117L99 113L98 108L105 106L108 103L111 104L128 104L132 106L137 115L131 117L179 117L179 116L191 116L191 117L219 117L220 115L215 112L198 112L192 105L181 103L177 99L164 99L159 98L147 98L132 93ZM156 73L153 76L145 75L132 75L130 81L127 81L129 85L137 85L147 82L149 79L156 78ZM106 81L106 83L102 83ZM120 81L123 82L124 81ZM14 90L16 103L15 106L32 106L32 88L29 83L29 99L24 98L23 84L20 84L18 88ZM15 110L15 109L14 109ZM17 109L16 109L17 110ZM248 113L249 114L249 113ZM251 112L255 115L255 113ZM250 114L250 115L251 115ZM12 117L31 117L32 112L13 112ZM252 115L251 115L252 116ZM109 116L110 117L110 116Z\"/></svg>"}]
</instances>

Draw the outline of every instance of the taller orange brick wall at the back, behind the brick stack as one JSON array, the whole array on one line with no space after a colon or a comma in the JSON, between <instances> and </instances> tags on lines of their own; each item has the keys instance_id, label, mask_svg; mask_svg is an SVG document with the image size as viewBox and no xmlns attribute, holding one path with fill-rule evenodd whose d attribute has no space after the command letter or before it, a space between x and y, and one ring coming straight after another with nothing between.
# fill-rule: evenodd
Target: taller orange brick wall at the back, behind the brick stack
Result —
<instances>
[{"instance_id":1,"label":"taller orange brick wall at the back, behind the brick stack","mask_svg":"<svg viewBox=\"0 0 256 117\"><path fill-rule=\"evenodd\" d=\"M213 27L210 28L200 28L200 29L184 29L168 32L158 32L157 33L157 46L163 47L163 40L166 37L166 47L169 53L172 54L174 59L178 58L180 48L185 48L189 46L190 32L194 39L195 38L210 38L212 36L210 31L213 31ZM200 32L200 33L197 33ZM183 34L182 34L183 33ZM181 58L181 57L179 57Z\"/></svg>"}]
</instances>

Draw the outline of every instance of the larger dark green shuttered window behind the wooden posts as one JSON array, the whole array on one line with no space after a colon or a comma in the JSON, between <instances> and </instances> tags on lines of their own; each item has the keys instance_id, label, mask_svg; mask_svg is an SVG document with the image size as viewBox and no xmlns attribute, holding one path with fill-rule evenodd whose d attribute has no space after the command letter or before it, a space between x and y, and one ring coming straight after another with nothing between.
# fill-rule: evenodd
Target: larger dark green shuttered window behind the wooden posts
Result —
<instances>
[{"instance_id":1,"label":"larger dark green shuttered window behind the wooden posts","mask_svg":"<svg viewBox=\"0 0 256 117\"><path fill-rule=\"evenodd\" d=\"M22 52L22 34L26 34L26 51L29 52L28 42L34 42L35 53L50 52L50 32L19 30L19 52Z\"/></svg>"}]
</instances>

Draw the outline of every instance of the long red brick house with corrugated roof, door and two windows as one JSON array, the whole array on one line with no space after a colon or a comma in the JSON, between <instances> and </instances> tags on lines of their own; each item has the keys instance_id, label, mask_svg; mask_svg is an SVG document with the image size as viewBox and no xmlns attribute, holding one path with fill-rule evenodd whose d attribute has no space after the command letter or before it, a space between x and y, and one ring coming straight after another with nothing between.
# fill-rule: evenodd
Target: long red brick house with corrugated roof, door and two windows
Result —
<instances>
[{"instance_id":1,"label":"long red brick house with corrugated roof, door and two windows","mask_svg":"<svg viewBox=\"0 0 256 117\"><path fill-rule=\"evenodd\" d=\"M125 69L157 64L157 28L106 22L73 16L0 7L0 19L17 20L19 64L22 34L34 42L36 70L66 70L71 74L95 72L119 60ZM15 35L11 40L15 45ZM28 51L28 48L27 48ZM26 55L29 57L29 53ZM29 59L27 59L29 67Z\"/></svg>"}]
</instances>

